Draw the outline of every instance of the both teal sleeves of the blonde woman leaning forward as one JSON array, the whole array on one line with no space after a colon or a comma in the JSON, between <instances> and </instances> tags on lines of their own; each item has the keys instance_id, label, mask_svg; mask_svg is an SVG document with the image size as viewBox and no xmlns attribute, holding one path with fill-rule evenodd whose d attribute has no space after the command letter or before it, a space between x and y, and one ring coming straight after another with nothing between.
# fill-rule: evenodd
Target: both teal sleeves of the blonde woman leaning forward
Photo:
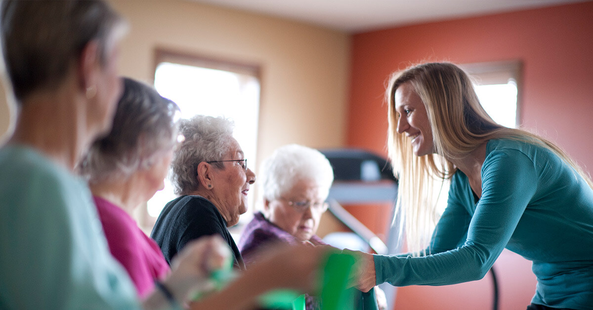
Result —
<instances>
[{"instance_id":1,"label":"both teal sleeves of the blonde woman leaning forward","mask_svg":"<svg viewBox=\"0 0 593 310\"><path fill-rule=\"evenodd\" d=\"M521 173L506 173L508 170ZM537 186L533 183L533 162L527 156L495 154L485 163L483 171L486 181L483 181L482 199L475 214L471 216L464 207L473 197L463 195L458 188L464 187L467 177L457 175L451 184L447 210L431 242L432 252L436 254L425 257L375 255L377 283L450 285L482 279L511 238ZM467 239L457 247L463 241L466 227Z\"/></svg>"}]
</instances>

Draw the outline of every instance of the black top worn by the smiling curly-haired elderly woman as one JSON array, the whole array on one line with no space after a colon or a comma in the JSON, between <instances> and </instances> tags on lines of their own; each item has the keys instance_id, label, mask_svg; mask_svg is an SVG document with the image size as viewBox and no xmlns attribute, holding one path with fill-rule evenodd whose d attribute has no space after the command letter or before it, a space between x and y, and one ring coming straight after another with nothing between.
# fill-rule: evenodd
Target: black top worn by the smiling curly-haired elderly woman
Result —
<instances>
[{"instance_id":1,"label":"black top worn by the smiling curly-haired elderly woman","mask_svg":"<svg viewBox=\"0 0 593 310\"><path fill-rule=\"evenodd\" d=\"M227 222L216 206L202 196L181 196L168 202L152 228L151 238L157 241L167 263L171 264L171 259L187 242L213 234L221 235L231 247L234 268L244 270L245 263Z\"/></svg>"}]
</instances>

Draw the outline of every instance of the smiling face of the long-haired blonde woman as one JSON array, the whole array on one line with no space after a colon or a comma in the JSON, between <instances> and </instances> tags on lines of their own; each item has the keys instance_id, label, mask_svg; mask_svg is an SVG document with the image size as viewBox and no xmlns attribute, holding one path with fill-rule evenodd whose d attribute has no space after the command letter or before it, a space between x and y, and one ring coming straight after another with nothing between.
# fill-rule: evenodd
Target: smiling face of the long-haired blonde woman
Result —
<instances>
[{"instance_id":1,"label":"smiling face of the long-haired blonde woman","mask_svg":"<svg viewBox=\"0 0 593 310\"><path fill-rule=\"evenodd\" d=\"M397 132L405 133L412 139L414 155L433 154L435 145L432 140L431 124L426 107L409 82L401 84L394 95L395 110L398 114Z\"/></svg>"}]
</instances>

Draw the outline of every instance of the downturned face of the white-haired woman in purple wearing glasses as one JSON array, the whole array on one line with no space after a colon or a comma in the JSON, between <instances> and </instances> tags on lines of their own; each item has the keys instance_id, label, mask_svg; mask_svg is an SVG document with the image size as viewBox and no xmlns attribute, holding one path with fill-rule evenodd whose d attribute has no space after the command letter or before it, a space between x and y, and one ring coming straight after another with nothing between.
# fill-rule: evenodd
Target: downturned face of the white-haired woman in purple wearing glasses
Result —
<instances>
[{"instance_id":1,"label":"downturned face of the white-haired woman in purple wearing glasses","mask_svg":"<svg viewBox=\"0 0 593 310\"><path fill-rule=\"evenodd\" d=\"M289 232L299 241L307 241L317 232L319 220L325 211L309 205L298 209L289 203L323 203L327 197L320 193L320 188L312 180L297 181L292 188L279 199L266 201L267 219Z\"/></svg>"}]
</instances>

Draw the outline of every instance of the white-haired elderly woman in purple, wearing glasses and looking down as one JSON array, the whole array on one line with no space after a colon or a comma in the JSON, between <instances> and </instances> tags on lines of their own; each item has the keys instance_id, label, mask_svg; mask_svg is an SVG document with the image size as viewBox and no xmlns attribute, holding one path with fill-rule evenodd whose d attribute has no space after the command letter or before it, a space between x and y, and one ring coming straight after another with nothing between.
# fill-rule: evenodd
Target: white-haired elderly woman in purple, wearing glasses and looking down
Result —
<instances>
[{"instance_id":1,"label":"white-haired elderly woman in purple, wearing glasses and looking down","mask_svg":"<svg viewBox=\"0 0 593 310\"><path fill-rule=\"evenodd\" d=\"M247 224L239 242L246 264L271 244L324 244L315 232L333 182L326 156L302 145L282 146L264 160L260 178L264 209Z\"/></svg>"}]
</instances>

